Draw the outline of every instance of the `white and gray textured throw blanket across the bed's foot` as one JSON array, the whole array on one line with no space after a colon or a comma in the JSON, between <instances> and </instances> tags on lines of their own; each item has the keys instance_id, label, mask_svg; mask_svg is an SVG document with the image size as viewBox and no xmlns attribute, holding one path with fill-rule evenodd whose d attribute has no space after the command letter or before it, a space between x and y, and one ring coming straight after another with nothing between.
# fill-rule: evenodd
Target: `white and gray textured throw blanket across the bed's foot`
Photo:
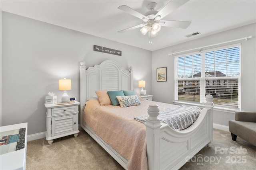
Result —
<instances>
[{"instance_id":1,"label":"white and gray textured throw blanket across the bed's foot","mask_svg":"<svg viewBox=\"0 0 256 170\"><path fill-rule=\"evenodd\" d=\"M163 123L168 124L172 129L177 131L190 127L198 118L201 109L197 106L182 105L174 109L160 111L158 118L162 119ZM145 118L148 115L134 117L135 120L146 122Z\"/></svg>"}]
</instances>

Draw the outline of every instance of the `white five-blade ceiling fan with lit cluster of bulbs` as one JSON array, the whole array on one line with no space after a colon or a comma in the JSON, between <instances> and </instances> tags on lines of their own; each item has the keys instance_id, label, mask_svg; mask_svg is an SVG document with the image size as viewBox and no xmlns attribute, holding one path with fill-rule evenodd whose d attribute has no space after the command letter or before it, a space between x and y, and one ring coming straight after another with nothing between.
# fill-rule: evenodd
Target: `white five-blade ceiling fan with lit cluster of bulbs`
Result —
<instances>
[{"instance_id":1,"label":"white five-blade ceiling fan with lit cluster of bulbs","mask_svg":"<svg viewBox=\"0 0 256 170\"><path fill-rule=\"evenodd\" d=\"M161 19L188 1L189 0L171 0L160 11L155 10L157 6L156 2L150 2L147 6L148 10L150 11L148 11L145 15L140 14L139 12L135 11L134 9L126 5L119 6L118 9L124 12L127 12L128 14L131 14L137 18L140 18L141 20L143 20L144 23L127 28L127 29L123 29L118 32L123 33L128 30L142 27L140 29L140 32L143 35L146 35L146 33L148 32L148 39L152 39L156 37L156 35L158 34L158 31L160 31L161 29L161 26L186 29L190 25L191 23L190 21L170 21L170 20L161 20Z\"/></svg>"}]
</instances>

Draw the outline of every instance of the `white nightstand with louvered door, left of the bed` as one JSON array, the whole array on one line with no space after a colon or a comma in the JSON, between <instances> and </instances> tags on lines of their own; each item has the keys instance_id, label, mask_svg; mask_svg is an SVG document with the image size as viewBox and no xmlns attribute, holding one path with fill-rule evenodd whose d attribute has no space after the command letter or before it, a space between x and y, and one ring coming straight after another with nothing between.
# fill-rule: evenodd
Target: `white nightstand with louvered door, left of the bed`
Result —
<instances>
[{"instance_id":1,"label":"white nightstand with louvered door, left of the bed","mask_svg":"<svg viewBox=\"0 0 256 170\"><path fill-rule=\"evenodd\" d=\"M53 139L73 135L78 136L78 106L79 102L72 104L44 104L46 107L46 140L49 144Z\"/></svg>"}]
</instances>

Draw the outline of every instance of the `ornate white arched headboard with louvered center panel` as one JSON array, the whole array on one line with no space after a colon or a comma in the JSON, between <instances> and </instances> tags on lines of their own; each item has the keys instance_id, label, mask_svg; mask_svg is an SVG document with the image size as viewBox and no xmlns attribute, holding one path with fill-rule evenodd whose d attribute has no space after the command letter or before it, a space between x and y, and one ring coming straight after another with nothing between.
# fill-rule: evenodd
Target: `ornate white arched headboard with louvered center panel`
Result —
<instances>
[{"instance_id":1,"label":"ornate white arched headboard with louvered center panel","mask_svg":"<svg viewBox=\"0 0 256 170\"><path fill-rule=\"evenodd\" d=\"M125 70L116 61L106 60L86 69L80 62L80 113L88 100L97 98L96 90L133 90L132 67Z\"/></svg>"}]
</instances>

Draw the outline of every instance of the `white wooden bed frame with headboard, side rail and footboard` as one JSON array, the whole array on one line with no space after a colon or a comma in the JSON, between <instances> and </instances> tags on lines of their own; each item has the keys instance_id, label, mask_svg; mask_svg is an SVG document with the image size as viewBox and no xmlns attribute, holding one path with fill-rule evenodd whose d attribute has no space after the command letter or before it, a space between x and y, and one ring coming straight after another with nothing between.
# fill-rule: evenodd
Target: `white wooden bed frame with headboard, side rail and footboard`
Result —
<instances>
[{"instance_id":1,"label":"white wooden bed frame with headboard, side rail and footboard","mask_svg":"<svg viewBox=\"0 0 256 170\"><path fill-rule=\"evenodd\" d=\"M97 98L95 90L133 90L133 70L125 70L116 61L106 60L86 69L80 63L80 126L102 146L120 165L127 169L128 160L105 143L84 122L85 103ZM147 159L149 170L179 169L212 141L212 96L206 96L205 107L197 121L182 131L175 131L158 119L159 108L148 107L146 125Z\"/></svg>"}]
</instances>

